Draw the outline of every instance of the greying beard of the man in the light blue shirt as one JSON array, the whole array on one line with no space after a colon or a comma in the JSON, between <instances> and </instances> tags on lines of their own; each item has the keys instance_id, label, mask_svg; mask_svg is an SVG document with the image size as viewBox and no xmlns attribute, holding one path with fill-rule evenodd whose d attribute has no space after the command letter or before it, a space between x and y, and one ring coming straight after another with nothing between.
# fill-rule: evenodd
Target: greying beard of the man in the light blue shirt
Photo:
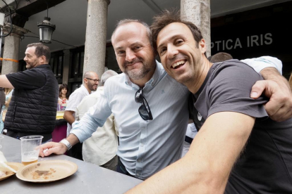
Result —
<instances>
[{"instance_id":1,"label":"greying beard of the man in the light blue shirt","mask_svg":"<svg viewBox=\"0 0 292 194\"><path fill-rule=\"evenodd\" d=\"M139 69L133 69L128 70L128 64L138 63L141 62L143 65ZM147 63L145 60L142 60L141 58L135 58L132 62L125 62L123 66L125 67L124 73L130 77L130 79L142 79L147 75L148 72L150 72L154 68L154 61L152 63Z\"/></svg>"}]
</instances>

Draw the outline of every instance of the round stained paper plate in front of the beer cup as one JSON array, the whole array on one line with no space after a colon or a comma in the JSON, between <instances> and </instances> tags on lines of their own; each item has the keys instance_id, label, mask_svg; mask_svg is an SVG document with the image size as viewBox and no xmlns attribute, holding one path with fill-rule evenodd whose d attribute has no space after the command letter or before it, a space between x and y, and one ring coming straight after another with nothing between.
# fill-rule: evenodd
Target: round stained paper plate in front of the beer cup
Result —
<instances>
[{"instance_id":1,"label":"round stained paper plate in front of the beer cup","mask_svg":"<svg viewBox=\"0 0 292 194\"><path fill-rule=\"evenodd\" d=\"M23 167L16 176L23 181L48 183L71 176L77 169L77 164L67 160L45 160Z\"/></svg>"}]
</instances>

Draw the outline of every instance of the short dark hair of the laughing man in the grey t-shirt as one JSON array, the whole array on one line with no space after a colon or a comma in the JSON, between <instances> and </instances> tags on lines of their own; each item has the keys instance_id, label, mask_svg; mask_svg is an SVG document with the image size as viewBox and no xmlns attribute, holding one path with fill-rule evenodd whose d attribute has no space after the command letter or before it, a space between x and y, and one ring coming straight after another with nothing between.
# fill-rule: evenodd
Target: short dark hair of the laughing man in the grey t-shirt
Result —
<instances>
[{"instance_id":1,"label":"short dark hair of the laughing man in the grey t-shirt","mask_svg":"<svg viewBox=\"0 0 292 194\"><path fill-rule=\"evenodd\" d=\"M181 12L172 10L164 10L160 15L154 16L153 18L154 22L151 25L151 32L152 32L152 44L155 49L157 49L157 36L159 32L166 27L166 25L169 25L174 22L180 22L186 25L190 32L192 32L193 37L195 41L197 42L196 46L199 46L199 42L202 40L202 33L199 28L197 28L196 25L194 25L192 22L188 22L185 20L181 20Z\"/></svg>"}]
</instances>

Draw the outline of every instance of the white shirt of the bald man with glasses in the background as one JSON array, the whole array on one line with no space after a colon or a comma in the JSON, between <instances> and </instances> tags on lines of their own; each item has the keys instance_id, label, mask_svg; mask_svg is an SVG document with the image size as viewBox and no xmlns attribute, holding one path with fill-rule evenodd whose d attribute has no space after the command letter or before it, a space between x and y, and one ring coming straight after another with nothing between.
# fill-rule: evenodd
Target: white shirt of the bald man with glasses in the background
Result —
<instances>
[{"instance_id":1,"label":"white shirt of the bald man with glasses in the background","mask_svg":"<svg viewBox=\"0 0 292 194\"><path fill-rule=\"evenodd\" d=\"M76 112L77 106L82 101L82 99L87 95L90 95L90 93L87 91L85 86L81 85L79 89L75 89L75 91L71 93L69 97L70 101L68 102L65 111L70 110ZM75 117L75 113L73 114L73 116ZM75 117L75 120L76 119L78 118ZM70 134L71 129L72 129L71 124L67 124L67 136L68 134Z\"/></svg>"}]
</instances>

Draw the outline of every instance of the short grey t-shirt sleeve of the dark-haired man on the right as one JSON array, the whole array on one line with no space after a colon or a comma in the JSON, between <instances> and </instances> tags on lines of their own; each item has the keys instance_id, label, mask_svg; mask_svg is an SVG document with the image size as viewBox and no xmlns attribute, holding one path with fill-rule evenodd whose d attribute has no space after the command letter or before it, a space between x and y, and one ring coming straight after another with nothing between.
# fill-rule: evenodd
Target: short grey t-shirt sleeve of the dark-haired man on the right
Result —
<instances>
[{"instance_id":1,"label":"short grey t-shirt sleeve of the dark-haired man on the right","mask_svg":"<svg viewBox=\"0 0 292 194\"><path fill-rule=\"evenodd\" d=\"M215 112L240 112L255 118L267 118L263 104L267 98L250 98L250 91L262 79L251 67L237 62L221 63L207 88L209 115Z\"/></svg>"}]
</instances>

